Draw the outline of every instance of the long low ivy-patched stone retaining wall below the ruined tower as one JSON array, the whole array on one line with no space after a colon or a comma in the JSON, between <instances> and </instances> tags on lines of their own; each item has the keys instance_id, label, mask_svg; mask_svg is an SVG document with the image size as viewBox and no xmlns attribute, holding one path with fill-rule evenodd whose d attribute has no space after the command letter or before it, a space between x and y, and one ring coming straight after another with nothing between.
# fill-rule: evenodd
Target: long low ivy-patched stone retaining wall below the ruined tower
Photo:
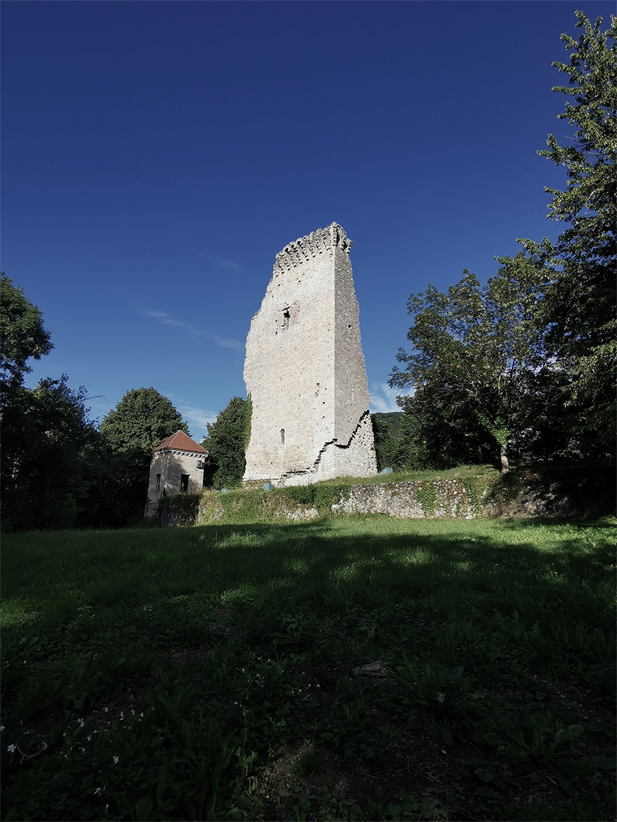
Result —
<instances>
[{"instance_id":1,"label":"long low ivy-patched stone retaining wall below the ruined tower","mask_svg":"<svg viewBox=\"0 0 617 822\"><path fill-rule=\"evenodd\" d=\"M508 475L509 476L509 475ZM321 488L321 491L318 489ZM312 490L311 490L312 489ZM408 483L375 483L338 487L310 486L303 501L293 489L251 489L247 494L202 496L197 521L285 522L324 515L387 514L400 519L472 520L485 516L569 517L615 515L615 472L612 466L577 466L522 473L504 481L501 474L466 478L434 478ZM323 492L327 492L324 494ZM173 506L172 506L173 507ZM187 512L188 514L188 512ZM193 519L193 522L195 519ZM168 524L191 524L169 511Z\"/></svg>"}]
</instances>

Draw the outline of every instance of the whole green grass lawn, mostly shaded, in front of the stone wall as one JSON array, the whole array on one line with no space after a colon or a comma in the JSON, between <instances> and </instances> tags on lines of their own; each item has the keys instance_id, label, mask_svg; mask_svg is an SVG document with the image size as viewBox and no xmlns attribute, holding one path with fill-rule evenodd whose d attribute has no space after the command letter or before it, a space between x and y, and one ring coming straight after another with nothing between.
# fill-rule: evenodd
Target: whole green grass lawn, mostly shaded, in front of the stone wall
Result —
<instances>
[{"instance_id":1,"label":"whole green grass lawn, mostly shaded, in front of the stone wall","mask_svg":"<svg viewBox=\"0 0 617 822\"><path fill-rule=\"evenodd\" d=\"M613 820L614 606L613 519L8 534L2 820Z\"/></svg>"}]
</instances>

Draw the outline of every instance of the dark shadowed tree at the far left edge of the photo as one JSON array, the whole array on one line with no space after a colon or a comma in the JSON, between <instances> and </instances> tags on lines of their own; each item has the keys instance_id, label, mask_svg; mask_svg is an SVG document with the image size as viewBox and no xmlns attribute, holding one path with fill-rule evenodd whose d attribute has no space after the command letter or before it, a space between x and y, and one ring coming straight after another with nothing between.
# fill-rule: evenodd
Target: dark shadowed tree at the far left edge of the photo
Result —
<instances>
[{"instance_id":1,"label":"dark shadowed tree at the far left edge of the photo","mask_svg":"<svg viewBox=\"0 0 617 822\"><path fill-rule=\"evenodd\" d=\"M67 376L23 385L30 358L53 349L40 309L0 275L2 383L2 528L69 528L78 524L92 486L97 434L86 389Z\"/></svg>"}]
</instances>

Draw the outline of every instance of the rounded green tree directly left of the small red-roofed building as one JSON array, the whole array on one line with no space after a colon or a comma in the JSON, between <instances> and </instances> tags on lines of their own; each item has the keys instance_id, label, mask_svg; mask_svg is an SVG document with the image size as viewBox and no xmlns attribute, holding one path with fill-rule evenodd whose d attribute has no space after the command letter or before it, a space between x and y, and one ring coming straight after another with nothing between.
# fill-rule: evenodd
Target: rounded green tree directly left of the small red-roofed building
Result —
<instances>
[{"instance_id":1,"label":"rounded green tree directly left of the small red-roofed building","mask_svg":"<svg viewBox=\"0 0 617 822\"><path fill-rule=\"evenodd\" d=\"M100 423L106 455L106 511L101 516L119 527L142 515L155 447L188 425L174 405L154 388L127 391Z\"/></svg>"}]
</instances>

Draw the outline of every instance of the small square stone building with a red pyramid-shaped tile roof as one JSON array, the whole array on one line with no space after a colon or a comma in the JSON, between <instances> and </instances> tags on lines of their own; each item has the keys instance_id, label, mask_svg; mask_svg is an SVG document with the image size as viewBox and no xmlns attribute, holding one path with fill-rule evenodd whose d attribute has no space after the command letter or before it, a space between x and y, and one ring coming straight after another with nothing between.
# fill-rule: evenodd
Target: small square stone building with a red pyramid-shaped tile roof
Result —
<instances>
[{"instance_id":1,"label":"small square stone building with a red pyramid-shaped tile roof","mask_svg":"<svg viewBox=\"0 0 617 822\"><path fill-rule=\"evenodd\" d=\"M156 446L150 464L146 516L154 516L166 494L198 494L203 487L204 461L208 452L183 431Z\"/></svg>"}]
</instances>

